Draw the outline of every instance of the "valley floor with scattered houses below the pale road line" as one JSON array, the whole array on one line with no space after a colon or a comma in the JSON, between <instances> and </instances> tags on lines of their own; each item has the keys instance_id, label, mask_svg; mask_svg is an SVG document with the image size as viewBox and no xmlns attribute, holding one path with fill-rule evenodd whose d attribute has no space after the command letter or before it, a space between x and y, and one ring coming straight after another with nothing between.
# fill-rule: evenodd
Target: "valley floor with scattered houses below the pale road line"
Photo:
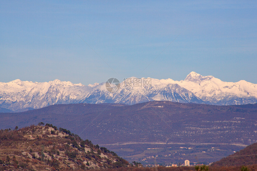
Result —
<instances>
[{"instance_id":1,"label":"valley floor with scattered houses below the pale road line","mask_svg":"<svg viewBox=\"0 0 257 171\"><path fill-rule=\"evenodd\" d=\"M183 164L185 160L189 160L191 164L210 164L246 147L241 144L207 143L123 143L101 146L115 151L129 162L138 161L144 166L171 166Z\"/></svg>"}]
</instances>

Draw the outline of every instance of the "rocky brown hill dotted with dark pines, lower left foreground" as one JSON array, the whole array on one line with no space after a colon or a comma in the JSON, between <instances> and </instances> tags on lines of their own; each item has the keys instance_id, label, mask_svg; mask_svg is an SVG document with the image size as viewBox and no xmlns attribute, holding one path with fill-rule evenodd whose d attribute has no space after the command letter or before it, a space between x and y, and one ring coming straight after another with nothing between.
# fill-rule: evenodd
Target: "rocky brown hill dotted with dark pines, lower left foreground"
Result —
<instances>
[{"instance_id":1,"label":"rocky brown hill dotted with dark pines, lower left foreground","mask_svg":"<svg viewBox=\"0 0 257 171\"><path fill-rule=\"evenodd\" d=\"M0 170L85 170L127 167L105 147L46 124L0 130Z\"/></svg>"}]
</instances>

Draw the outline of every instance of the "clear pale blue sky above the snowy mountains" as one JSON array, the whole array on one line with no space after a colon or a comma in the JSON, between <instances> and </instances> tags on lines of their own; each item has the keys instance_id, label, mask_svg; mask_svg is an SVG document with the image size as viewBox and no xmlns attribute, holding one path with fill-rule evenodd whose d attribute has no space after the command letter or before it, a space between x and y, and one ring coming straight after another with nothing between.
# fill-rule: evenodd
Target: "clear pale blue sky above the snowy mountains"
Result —
<instances>
[{"instance_id":1,"label":"clear pale blue sky above the snowy mountains","mask_svg":"<svg viewBox=\"0 0 257 171\"><path fill-rule=\"evenodd\" d=\"M0 82L257 84L256 52L257 1L0 1Z\"/></svg>"}]
</instances>

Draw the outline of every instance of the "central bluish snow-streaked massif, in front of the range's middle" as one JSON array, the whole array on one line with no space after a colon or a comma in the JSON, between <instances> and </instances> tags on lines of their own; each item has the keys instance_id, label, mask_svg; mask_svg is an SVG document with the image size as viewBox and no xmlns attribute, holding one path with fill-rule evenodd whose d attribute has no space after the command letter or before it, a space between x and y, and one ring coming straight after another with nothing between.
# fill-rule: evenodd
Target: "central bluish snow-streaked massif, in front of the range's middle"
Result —
<instances>
[{"instance_id":1,"label":"central bluish snow-streaked massif, in front of the range's middle","mask_svg":"<svg viewBox=\"0 0 257 171\"><path fill-rule=\"evenodd\" d=\"M133 78L133 77L132 77ZM83 103L124 103L136 104L146 101L176 101L180 103L204 103L192 92L180 87L178 84L162 84L157 79L152 79L152 86L126 87L121 83L116 93L110 93L105 88L105 83L93 87Z\"/></svg>"}]
</instances>

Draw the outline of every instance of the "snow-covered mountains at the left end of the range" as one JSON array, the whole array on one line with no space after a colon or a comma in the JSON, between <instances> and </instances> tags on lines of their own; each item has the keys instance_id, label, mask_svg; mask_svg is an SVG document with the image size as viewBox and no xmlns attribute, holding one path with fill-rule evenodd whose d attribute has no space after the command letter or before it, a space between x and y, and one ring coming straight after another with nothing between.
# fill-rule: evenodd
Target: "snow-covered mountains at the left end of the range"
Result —
<instances>
[{"instance_id":1,"label":"snow-covered mountains at the left end of the range","mask_svg":"<svg viewBox=\"0 0 257 171\"><path fill-rule=\"evenodd\" d=\"M0 106L11 110L26 107L41 108L52 104L74 103L84 98L91 87L54 80L33 83L14 80L0 83Z\"/></svg>"}]
</instances>

